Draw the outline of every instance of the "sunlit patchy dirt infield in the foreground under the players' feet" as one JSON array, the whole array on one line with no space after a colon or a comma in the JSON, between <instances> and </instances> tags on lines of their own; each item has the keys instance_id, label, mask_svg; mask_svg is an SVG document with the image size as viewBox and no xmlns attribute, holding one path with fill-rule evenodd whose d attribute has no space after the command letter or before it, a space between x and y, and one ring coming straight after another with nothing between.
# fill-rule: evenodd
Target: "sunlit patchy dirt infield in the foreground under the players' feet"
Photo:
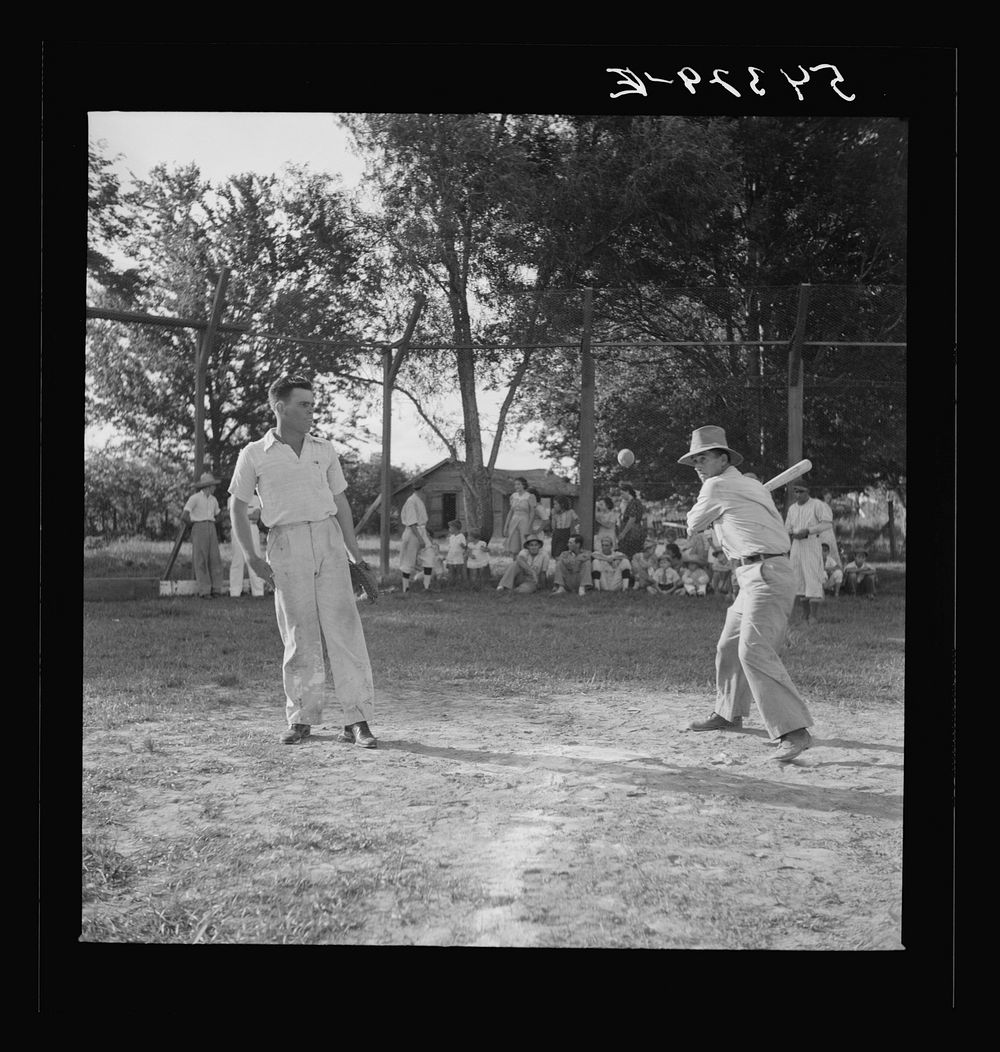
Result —
<instances>
[{"instance_id":1,"label":"sunlit patchy dirt infield in the foreground under the players' feet","mask_svg":"<svg viewBox=\"0 0 1000 1052\"><path fill-rule=\"evenodd\" d=\"M901 705L813 705L781 766L756 715L682 731L690 695L382 692L377 750L198 695L85 732L119 869L84 867L84 940L901 949Z\"/></svg>"}]
</instances>

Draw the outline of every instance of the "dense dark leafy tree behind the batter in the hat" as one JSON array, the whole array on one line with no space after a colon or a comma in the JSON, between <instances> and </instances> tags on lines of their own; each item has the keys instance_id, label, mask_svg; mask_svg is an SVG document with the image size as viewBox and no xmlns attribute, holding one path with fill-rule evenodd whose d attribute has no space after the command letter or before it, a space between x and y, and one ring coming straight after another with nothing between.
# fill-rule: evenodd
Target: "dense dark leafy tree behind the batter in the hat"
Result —
<instances>
[{"instance_id":1,"label":"dense dark leafy tree behind the batter in the hat","mask_svg":"<svg viewBox=\"0 0 1000 1052\"><path fill-rule=\"evenodd\" d=\"M614 451L630 446L640 452L635 478L656 495L695 485L674 462L706 422L725 424L764 470L783 466L788 348L767 341L791 339L799 283L815 285L808 341L905 340L904 123L743 118L726 127L738 193L705 217L705 236L678 252L662 227L637 224L620 246L609 242L599 268L614 287L598 284L594 339L621 346L597 352L598 476L617 473ZM823 481L899 487L904 355L807 346L803 370L804 453ZM577 356L546 372L517 420L550 456L575 457Z\"/></svg>"}]
</instances>

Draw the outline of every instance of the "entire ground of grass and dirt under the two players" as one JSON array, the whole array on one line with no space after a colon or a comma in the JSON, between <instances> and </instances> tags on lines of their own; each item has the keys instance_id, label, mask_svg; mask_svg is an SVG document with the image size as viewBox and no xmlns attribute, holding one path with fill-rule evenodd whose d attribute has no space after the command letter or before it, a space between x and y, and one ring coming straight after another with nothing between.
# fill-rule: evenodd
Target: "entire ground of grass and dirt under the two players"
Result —
<instances>
[{"instance_id":1,"label":"entire ground of grass and dirt under the two players","mask_svg":"<svg viewBox=\"0 0 1000 1052\"><path fill-rule=\"evenodd\" d=\"M85 566L118 575L127 561L127 571L158 576L168 552L122 544L85 552ZM834 741L868 750L811 775L854 780L830 790L861 812L850 833L825 800L790 809L797 790L772 781L712 781L730 768L713 768L710 753L695 763L691 751L717 750L711 735L676 753L694 766L599 758L623 741L677 748L661 699L688 699L691 713L711 708L719 596L414 589L364 603L376 697L386 700L376 702L383 746L367 754L336 751L322 735L311 751L277 745L282 646L269 596L85 603L81 937L464 945L503 930L486 945L517 945L530 927L531 945L871 948L896 893L898 832L895 820L871 825L875 804L848 792L881 748L850 739L862 717L901 713L902 567L880 566L880 588L875 602L824 604L783 655ZM761 748L753 737L738 744ZM880 770L897 777L896 746L884 748ZM567 749L598 758L558 758ZM532 756L540 768L524 766ZM785 795L766 825L748 801L777 792ZM327 798L330 808L303 806ZM894 797L872 796L883 798ZM584 817L591 825L572 833ZM558 836L546 832L550 822ZM802 885L809 927L789 911L788 873L797 871L761 868L771 865L764 835L783 837L785 861L815 863L828 883L831 846L842 844L842 883L831 885L840 898L823 906L816 885ZM542 855L549 862L522 862L515 879L518 859ZM764 895L783 904L777 912L748 912L779 878ZM516 923L504 920L522 907ZM872 911L883 918L874 928ZM448 933L442 917L472 927Z\"/></svg>"}]
</instances>

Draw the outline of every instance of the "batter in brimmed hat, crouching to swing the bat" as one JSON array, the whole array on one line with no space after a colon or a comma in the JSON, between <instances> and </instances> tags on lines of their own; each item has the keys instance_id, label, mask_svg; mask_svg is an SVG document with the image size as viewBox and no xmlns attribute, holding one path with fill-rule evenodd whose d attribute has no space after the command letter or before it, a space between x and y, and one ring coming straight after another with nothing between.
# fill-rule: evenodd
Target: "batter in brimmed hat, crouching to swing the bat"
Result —
<instances>
[{"instance_id":1,"label":"batter in brimmed hat, crouching to swing the bat","mask_svg":"<svg viewBox=\"0 0 1000 1052\"><path fill-rule=\"evenodd\" d=\"M774 758L784 763L812 744L805 729L812 716L777 653L795 604L795 573L781 515L761 483L737 470L742 460L727 445L726 431L710 426L692 433L690 450L677 461L701 480L688 512L689 535L714 523L739 583L716 647L715 711L690 729L738 729L755 702L778 743Z\"/></svg>"}]
</instances>

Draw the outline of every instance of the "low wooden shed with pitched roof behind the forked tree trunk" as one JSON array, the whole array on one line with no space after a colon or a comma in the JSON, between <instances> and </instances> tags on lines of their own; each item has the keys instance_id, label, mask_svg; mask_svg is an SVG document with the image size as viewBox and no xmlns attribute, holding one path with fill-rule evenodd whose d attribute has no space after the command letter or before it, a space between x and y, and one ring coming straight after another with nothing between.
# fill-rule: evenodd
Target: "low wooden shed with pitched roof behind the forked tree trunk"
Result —
<instances>
[{"instance_id":1,"label":"low wooden shed with pitched roof behind the forked tree trunk","mask_svg":"<svg viewBox=\"0 0 1000 1052\"><path fill-rule=\"evenodd\" d=\"M462 482L462 461L443 460L433 467L422 471L417 479L424 480L421 497L427 505L427 525L434 532L448 529L452 519L462 522L469 528L471 517L466 504L465 486ZM575 505L579 487L562 476L545 468L533 468L527 471L494 468L493 470L493 537L498 538L504 531L504 521L510 510L510 494L514 491L514 479L523 477L528 485L534 486L542 494L542 504L551 507L553 497L568 497ZM413 492L413 480L393 490L392 519L399 522L400 509L407 498Z\"/></svg>"}]
</instances>

